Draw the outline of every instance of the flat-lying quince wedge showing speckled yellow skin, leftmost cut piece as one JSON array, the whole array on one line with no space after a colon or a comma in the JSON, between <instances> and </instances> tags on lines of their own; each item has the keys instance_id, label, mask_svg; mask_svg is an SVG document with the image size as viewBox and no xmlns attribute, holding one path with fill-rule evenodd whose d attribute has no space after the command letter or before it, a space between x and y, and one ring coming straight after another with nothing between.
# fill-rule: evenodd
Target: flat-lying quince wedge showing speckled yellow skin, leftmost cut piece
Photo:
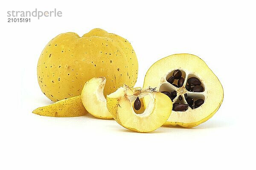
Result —
<instances>
[{"instance_id":1,"label":"flat-lying quince wedge showing speckled yellow skin, leftmost cut piece","mask_svg":"<svg viewBox=\"0 0 256 170\"><path fill-rule=\"evenodd\" d=\"M87 111L82 104L81 96L75 96L60 100L51 105L37 108L32 111L32 113L41 116L76 117L84 116Z\"/></svg>"}]
</instances>

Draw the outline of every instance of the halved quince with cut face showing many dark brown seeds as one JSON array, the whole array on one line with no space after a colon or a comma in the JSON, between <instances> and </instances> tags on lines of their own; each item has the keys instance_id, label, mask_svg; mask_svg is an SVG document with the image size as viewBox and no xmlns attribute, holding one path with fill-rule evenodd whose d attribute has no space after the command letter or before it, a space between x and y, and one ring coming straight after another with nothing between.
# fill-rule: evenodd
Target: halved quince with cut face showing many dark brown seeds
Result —
<instances>
[{"instance_id":1,"label":"halved quince with cut face showing many dark brown seeds","mask_svg":"<svg viewBox=\"0 0 256 170\"><path fill-rule=\"evenodd\" d=\"M173 101L173 111L165 125L200 125L218 111L223 101L218 78L192 54L175 54L155 62L145 75L143 88L149 86ZM145 104L148 102L145 98Z\"/></svg>"}]
</instances>

